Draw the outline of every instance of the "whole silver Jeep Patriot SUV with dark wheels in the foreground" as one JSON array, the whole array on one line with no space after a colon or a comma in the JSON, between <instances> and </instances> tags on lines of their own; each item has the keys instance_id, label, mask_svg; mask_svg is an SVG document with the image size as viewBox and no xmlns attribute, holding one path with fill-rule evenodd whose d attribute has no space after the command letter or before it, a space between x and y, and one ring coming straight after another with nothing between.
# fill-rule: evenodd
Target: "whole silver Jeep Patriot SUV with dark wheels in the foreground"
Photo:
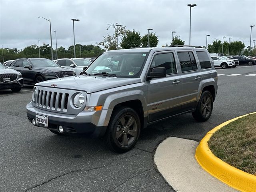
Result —
<instances>
[{"instance_id":1,"label":"whole silver Jeep Patriot SUV with dark wheels in the foreground","mask_svg":"<svg viewBox=\"0 0 256 192\"><path fill-rule=\"evenodd\" d=\"M108 66L103 61L108 60ZM106 51L83 75L37 83L28 120L55 134L103 137L110 149L134 147L142 128L192 112L210 118L217 72L196 46Z\"/></svg>"}]
</instances>

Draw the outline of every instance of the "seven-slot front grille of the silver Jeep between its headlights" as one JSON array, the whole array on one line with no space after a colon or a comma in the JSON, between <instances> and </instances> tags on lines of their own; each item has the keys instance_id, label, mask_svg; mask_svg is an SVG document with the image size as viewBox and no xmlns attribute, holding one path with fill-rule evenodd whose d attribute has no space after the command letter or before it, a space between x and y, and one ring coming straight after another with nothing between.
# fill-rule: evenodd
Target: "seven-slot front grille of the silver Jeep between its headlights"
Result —
<instances>
[{"instance_id":1,"label":"seven-slot front grille of the silver Jeep between its headlights","mask_svg":"<svg viewBox=\"0 0 256 192\"><path fill-rule=\"evenodd\" d=\"M53 111L66 112L68 110L68 93L59 93L38 89L36 106Z\"/></svg>"}]
</instances>

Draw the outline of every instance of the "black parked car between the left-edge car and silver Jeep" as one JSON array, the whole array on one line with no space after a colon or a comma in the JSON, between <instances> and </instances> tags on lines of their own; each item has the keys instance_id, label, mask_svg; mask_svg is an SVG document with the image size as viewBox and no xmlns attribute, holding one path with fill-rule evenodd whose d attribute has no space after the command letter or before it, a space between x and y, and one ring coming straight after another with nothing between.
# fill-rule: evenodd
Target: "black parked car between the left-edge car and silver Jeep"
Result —
<instances>
[{"instance_id":1,"label":"black parked car between the left-edge car and silver Jeep","mask_svg":"<svg viewBox=\"0 0 256 192\"><path fill-rule=\"evenodd\" d=\"M9 68L20 72L24 84L28 85L74 75L72 70L62 68L52 60L44 58L19 58L14 60Z\"/></svg>"}]
</instances>

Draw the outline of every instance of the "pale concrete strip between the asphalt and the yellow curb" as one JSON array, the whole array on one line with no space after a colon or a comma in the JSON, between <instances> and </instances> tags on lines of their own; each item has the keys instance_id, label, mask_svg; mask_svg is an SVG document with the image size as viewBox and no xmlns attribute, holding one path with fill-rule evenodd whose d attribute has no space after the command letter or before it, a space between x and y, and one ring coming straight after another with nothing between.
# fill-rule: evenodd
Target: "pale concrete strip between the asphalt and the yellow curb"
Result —
<instances>
[{"instance_id":1,"label":"pale concrete strip between the asphalt and the yellow curb","mask_svg":"<svg viewBox=\"0 0 256 192\"><path fill-rule=\"evenodd\" d=\"M154 162L177 192L236 192L204 171L195 159L198 142L169 137L156 149Z\"/></svg>"}]
</instances>

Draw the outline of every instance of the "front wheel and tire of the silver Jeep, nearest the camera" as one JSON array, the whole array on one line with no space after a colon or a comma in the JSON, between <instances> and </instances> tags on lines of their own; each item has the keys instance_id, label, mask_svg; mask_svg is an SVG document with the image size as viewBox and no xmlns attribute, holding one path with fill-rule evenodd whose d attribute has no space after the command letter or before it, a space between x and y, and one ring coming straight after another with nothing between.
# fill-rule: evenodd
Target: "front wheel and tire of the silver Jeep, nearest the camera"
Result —
<instances>
[{"instance_id":1,"label":"front wheel and tire of the silver Jeep, nearest the camera","mask_svg":"<svg viewBox=\"0 0 256 192\"><path fill-rule=\"evenodd\" d=\"M131 150L140 136L140 118L135 110L119 107L114 110L105 134L108 147L114 152Z\"/></svg>"}]
</instances>

